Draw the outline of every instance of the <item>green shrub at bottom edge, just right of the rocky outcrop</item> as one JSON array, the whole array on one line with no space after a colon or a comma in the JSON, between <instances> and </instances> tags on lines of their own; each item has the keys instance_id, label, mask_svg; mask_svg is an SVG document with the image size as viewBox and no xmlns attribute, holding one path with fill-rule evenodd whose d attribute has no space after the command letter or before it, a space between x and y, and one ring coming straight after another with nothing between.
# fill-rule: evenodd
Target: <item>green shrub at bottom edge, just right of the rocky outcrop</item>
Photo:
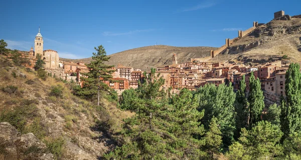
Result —
<instances>
[{"instance_id":1,"label":"green shrub at bottom edge, just right of the rocky outcrop","mask_svg":"<svg viewBox=\"0 0 301 160\"><path fill-rule=\"evenodd\" d=\"M63 147L65 145L65 139L63 137L48 138L45 140L45 144L50 152L54 155L55 159L62 156Z\"/></svg>"}]
</instances>

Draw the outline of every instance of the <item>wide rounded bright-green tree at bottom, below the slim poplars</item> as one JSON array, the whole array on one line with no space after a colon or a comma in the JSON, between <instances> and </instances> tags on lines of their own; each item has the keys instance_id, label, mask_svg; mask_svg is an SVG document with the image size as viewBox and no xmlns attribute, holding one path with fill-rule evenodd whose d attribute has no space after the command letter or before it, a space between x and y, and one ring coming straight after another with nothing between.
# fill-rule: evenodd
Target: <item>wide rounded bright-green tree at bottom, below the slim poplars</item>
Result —
<instances>
[{"instance_id":1,"label":"wide rounded bright-green tree at bottom, below the slim poplars","mask_svg":"<svg viewBox=\"0 0 301 160\"><path fill-rule=\"evenodd\" d=\"M282 135L279 126L259 121L250 130L242 128L239 143L251 159L273 159L282 155L283 148L279 144Z\"/></svg>"}]
</instances>

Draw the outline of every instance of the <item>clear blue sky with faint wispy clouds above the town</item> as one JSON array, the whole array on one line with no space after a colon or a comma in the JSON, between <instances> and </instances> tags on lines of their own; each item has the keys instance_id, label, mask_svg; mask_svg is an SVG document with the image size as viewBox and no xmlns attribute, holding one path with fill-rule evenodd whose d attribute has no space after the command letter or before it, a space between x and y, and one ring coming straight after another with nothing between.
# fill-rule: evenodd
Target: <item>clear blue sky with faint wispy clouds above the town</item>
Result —
<instances>
[{"instance_id":1,"label":"clear blue sky with faint wispy clouds above the town","mask_svg":"<svg viewBox=\"0 0 301 160\"><path fill-rule=\"evenodd\" d=\"M289 2L289 3L288 3ZM4 1L0 39L29 51L39 26L44 50L63 58L91 57L103 45L108 55L160 45L224 45L237 30L267 23L283 10L300 15L301 1Z\"/></svg>"}]
</instances>

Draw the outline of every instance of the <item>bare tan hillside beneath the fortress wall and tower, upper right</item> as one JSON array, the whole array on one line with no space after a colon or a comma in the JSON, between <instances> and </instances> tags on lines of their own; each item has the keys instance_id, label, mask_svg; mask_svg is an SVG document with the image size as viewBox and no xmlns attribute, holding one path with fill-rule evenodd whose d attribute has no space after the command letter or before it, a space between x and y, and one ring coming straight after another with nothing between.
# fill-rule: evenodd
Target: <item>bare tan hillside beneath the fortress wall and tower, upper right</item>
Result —
<instances>
[{"instance_id":1,"label":"bare tan hillside beneath the fortress wall and tower, upper right","mask_svg":"<svg viewBox=\"0 0 301 160\"><path fill-rule=\"evenodd\" d=\"M272 20L224 50L213 61L264 63L287 55L301 62L301 19Z\"/></svg>"}]
</instances>

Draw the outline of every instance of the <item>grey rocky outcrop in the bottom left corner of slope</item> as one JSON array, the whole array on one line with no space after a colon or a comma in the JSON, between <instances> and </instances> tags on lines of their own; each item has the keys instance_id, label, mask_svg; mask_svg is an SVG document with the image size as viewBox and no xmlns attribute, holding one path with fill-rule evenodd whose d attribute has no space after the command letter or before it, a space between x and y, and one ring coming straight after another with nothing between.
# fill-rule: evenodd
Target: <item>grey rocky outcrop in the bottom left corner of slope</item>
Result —
<instances>
[{"instance_id":1,"label":"grey rocky outcrop in the bottom left corner of slope","mask_svg":"<svg viewBox=\"0 0 301 160\"><path fill-rule=\"evenodd\" d=\"M33 133L20 134L8 122L0 123L0 157L4 159L51 160L53 154Z\"/></svg>"}]
</instances>

